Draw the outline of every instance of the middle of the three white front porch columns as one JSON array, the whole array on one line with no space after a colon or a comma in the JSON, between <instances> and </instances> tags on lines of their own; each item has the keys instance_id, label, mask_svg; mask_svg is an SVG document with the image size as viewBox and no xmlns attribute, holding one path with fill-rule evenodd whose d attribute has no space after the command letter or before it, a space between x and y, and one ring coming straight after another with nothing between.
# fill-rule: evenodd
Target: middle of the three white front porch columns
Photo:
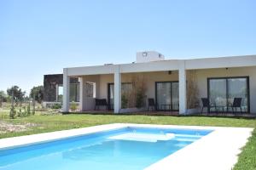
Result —
<instances>
[{"instance_id":1,"label":"middle of the three white front porch columns","mask_svg":"<svg viewBox=\"0 0 256 170\"><path fill-rule=\"evenodd\" d=\"M119 113L121 109L121 74L119 71L119 65L114 70L114 113Z\"/></svg>"}]
</instances>

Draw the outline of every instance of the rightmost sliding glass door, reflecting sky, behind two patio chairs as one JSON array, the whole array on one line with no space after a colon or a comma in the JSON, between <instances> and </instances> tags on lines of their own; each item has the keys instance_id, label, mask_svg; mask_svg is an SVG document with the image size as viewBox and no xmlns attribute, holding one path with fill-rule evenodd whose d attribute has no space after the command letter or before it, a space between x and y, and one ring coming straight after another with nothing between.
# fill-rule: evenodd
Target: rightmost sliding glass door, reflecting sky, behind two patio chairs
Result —
<instances>
[{"instance_id":1,"label":"rightmost sliding glass door, reflecting sky, behind two patio chairs","mask_svg":"<svg viewBox=\"0 0 256 170\"><path fill-rule=\"evenodd\" d=\"M234 98L241 98L241 108L249 111L248 77L224 77L208 79L208 95L210 102L221 106L224 111L231 111ZM213 109L212 109L213 110Z\"/></svg>"}]
</instances>

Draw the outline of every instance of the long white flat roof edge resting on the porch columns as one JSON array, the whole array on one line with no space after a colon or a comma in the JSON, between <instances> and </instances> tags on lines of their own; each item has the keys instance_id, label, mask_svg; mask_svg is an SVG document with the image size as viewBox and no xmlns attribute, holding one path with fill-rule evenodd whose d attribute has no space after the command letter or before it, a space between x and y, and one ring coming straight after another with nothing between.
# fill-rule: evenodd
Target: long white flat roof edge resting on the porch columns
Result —
<instances>
[{"instance_id":1,"label":"long white flat roof edge resting on the porch columns","mask_svg":"<svg viewBox=\"0 0 256 170\"><path fill-rule=\"evenodd\" d=\"M256 66L256 55L240 55L218 58L202 59L165 59L144 63L129 63L118 65L96 65L64 68L67 76L113 74L120 73L147 72L147 71L177 71L180 68L185 70L214 69L227 67Z\"/></svg>"}]
</instances>

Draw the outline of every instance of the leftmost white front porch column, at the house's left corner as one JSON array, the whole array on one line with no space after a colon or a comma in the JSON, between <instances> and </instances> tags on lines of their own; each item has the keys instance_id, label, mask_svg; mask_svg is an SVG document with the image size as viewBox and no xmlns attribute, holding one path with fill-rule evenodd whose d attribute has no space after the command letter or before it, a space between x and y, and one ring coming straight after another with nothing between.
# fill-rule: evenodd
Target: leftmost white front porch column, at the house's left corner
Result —
<instances>
[{"instance_id":1,"label":"leftmost white front porch column, at the house's left corner","mask_svg":"<svg viewBox=\"0 0 256 170\"><path fill-rule=\"evenodd\" d=\"M67 76L67 69L63 70L63 105L62 112L69 112L69 84L70 77Z\"/></svg>"}]
</instances>

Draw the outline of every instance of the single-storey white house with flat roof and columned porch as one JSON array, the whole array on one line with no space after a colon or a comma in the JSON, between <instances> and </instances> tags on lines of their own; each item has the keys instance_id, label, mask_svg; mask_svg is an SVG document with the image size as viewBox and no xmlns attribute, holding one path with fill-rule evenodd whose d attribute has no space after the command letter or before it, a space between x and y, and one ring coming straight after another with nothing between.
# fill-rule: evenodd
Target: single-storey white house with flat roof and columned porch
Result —
<instances>
[{"instance_id":1,"label":"single-storey white house with flat roof and columned porch","mask_svg":"<svg viewBox=\"0 0 256 170\"><path fill-rule=\"evenodd\" d=\"M256 113L256 55L165 59L146 51L137 53L137 62L131 64L64 68L63 112L69 111L73 78L79 79L80 111L92 111L95 99L107 99L109 109L119 113L122 97L127 100L123 94L143 83L143 107L154 99L157 110L186 114L201 106L201 98L208 98L230 111L228 105L239 97L243 112Z\"/></svg>"}]
</instances>

